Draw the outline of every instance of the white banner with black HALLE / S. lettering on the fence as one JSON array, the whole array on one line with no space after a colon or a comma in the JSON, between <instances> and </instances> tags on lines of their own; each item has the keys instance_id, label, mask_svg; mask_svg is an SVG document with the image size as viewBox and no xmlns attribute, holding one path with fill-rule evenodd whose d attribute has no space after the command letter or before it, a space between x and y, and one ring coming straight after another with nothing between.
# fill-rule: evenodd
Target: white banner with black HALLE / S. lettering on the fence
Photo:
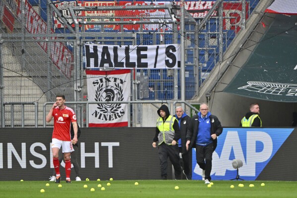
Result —
<instances>
[{"instance_id":1,"label":"white banner with black HALLE / S. lettering on the fence","mask_svg":"<svg viewBox=\"0 0 297 198\"><path fill-rule=\"evenodd\" d=\"M85 44L86 68L180 68L180 45Z\"/></svg>"}]
</instances>

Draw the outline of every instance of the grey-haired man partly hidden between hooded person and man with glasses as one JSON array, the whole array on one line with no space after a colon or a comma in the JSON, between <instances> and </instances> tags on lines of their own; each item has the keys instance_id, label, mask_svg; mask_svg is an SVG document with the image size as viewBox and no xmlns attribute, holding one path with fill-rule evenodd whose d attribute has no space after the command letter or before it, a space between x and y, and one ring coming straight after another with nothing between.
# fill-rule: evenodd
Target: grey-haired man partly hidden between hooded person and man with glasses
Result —
<instances>
[{"instance_id":1,"label":"grey-haired man partly hidden between hooded person and man with glasses","mask_svg":"<svg viewBox=\"0 0 297 198\"><path fill-rule=\"evenodd\" d=\"M181 106L176 107L176 119L178 120L179 130L180 130L180 138L178 139L178 149L179 153L181 153L182 157L182 167L183 167L183 175L185 179L192 179L192 149L189 151L185 147L186 142L186 132L190 126L191 118L186 115Z\"/></svg>"}]
</instances>

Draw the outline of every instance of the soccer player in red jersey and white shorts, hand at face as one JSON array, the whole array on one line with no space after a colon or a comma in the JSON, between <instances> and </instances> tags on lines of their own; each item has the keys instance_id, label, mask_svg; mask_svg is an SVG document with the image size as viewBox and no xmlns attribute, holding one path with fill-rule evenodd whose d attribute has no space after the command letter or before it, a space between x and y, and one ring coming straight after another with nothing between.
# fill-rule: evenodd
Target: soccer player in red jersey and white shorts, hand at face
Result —
<instances>
[{"instance_id":1,"label":"soccer player in red jersey and white shorts, hand at face","mask_svg":"<svg viewBox=\"0 0 297 198\"><path fill-rule=\"evenodd\" d=\"M66 183L71 183L71 162L70 153L74 151L72 143L77 143L77 123L74 111L66 107L65 96L57 95L56 103L53 104L46 121L51 122L54 117L54 131L52 136L52 152L53 164L56 171L56 183L60 183L60 163L59 163L59 149L62 147L62 153L65 161ZM71 140L70 136L70 123L73 125L74 137Z\"/></svg>"}]
</instances>

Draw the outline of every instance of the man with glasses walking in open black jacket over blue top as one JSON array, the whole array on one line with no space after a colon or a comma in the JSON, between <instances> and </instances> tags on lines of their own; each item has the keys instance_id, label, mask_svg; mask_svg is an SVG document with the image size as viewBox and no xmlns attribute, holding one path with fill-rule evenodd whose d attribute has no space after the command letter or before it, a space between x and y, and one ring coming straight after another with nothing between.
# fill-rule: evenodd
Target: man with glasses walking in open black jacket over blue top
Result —
<instances>
[{"instance_id":1,"label":"man with glasses walking in open black jacket over blue top","mask_svg":"<svg viewBox=\"0 0 297 198\"><path fill-rule=\"evenodd\" d=\"M217 147L217 137L223 132L219 119L208 112L208 105L202 103L200 112L191 118L186 134L186 149L196 148L196 160L202 169L202 180L210 184L212 153Z\"/></svg>"}]
</instances>

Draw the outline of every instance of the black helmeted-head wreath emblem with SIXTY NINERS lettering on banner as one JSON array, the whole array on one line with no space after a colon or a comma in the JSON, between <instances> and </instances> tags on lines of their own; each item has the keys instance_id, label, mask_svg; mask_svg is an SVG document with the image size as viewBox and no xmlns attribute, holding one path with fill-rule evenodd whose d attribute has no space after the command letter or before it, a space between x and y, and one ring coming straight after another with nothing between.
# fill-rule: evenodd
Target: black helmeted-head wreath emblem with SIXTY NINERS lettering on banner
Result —
<instances>
[{"instance_id":1,"label":"black helmeted-head wreath emblem with SIXTY NINERS lettering on banner","mask_svg":"<svg viewBox=\"0 0 297 198\"><path fill-rule=\"evenodd\" d=\"M93 116L103 121L112 121L125 114L122 104L109 103L124 100L123 82L125 81L117 77L103 77L93 82L94 86L98 86L95 91L95 101L105 102L98 104Z\"/></svg>"}]
</instances>

